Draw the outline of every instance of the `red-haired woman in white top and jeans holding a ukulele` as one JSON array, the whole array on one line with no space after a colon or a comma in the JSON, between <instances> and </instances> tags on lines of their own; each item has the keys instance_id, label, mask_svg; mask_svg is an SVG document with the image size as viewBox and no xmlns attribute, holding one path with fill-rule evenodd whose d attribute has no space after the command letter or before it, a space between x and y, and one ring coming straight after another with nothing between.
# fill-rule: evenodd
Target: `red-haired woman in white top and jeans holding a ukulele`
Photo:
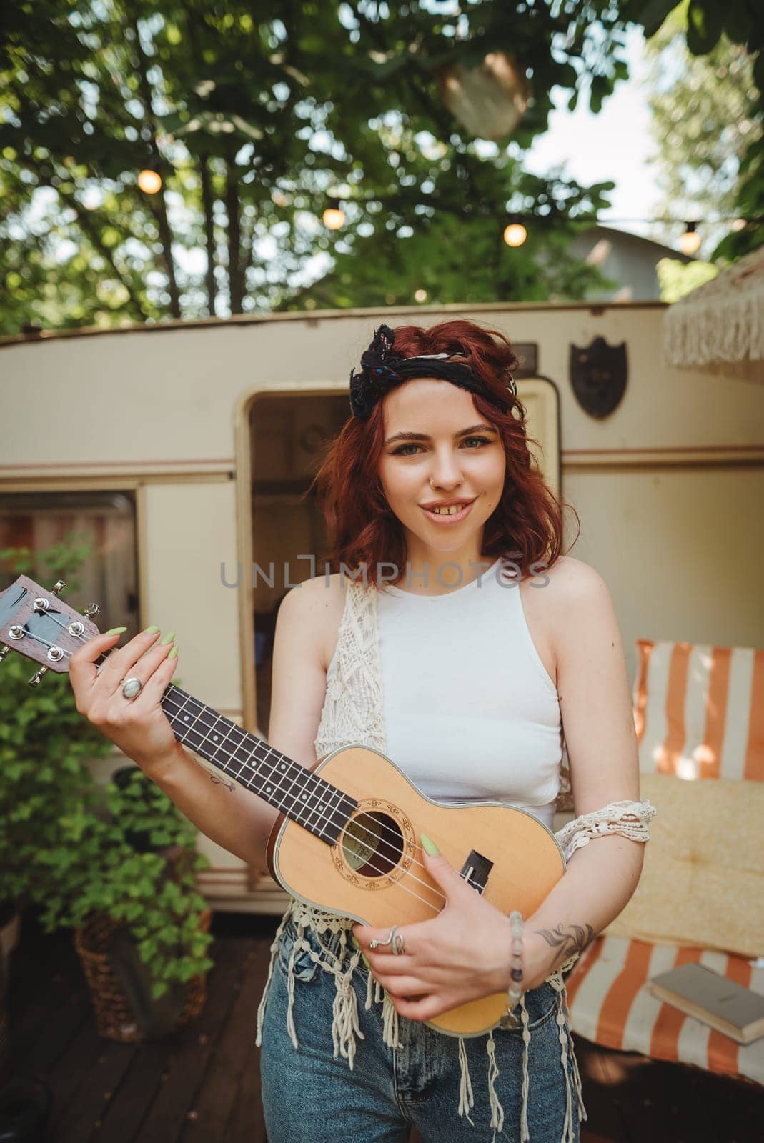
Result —
<instances>
[{"instance_id":1,"label":"red-haired woman in white top and jeans holding a ukulele","mask_svg":"<svg viewBox=\"0 0 764 1143\"><path fill-rule=\"evenodd\" d=\"M279 609L269 741L307 766L364 743L433 799L503 801L551 828L564 722L579 818L558 836L566 873L524 928L437 838L421 839L445 898L431 920L374 929L292 902L258 1012L269 1141L392 1143L416 1125L425 1143L574 1143L586 1112L563 972L634 893L654 813L637 800L618 622L597 573L560 555L503 335L382 326L361 367L317 478L340 570ZM159 706L167 641L149 629L96 674L113 634L91 640L71 662L78 709L202 832L262 866L274 812L239 786L210 791L175 741ZM130 702L128 671L143 681ZM507 1026L487 1036L425 1023L501 990Z\"/></svg>"}]
</instances>

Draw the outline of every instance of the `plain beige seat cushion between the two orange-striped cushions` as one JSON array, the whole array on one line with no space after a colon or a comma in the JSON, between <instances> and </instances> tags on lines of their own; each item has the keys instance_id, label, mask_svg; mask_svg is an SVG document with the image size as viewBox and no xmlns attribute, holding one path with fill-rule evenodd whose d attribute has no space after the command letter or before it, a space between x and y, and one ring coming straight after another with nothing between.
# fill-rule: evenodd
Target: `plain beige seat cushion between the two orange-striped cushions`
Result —
<instances>
[{"instance_id":1,"label":"plain beige seat cushion between the two orange-striped cushions","mask_svg":"<svg viewBox=\"0 0 764 1143\"><path fill-rule=\"evenodd\" d=\"M656 809L642 878L605 932L764 956L764 783L640 774L639 793Z\"/></svg>"}]
</instances>

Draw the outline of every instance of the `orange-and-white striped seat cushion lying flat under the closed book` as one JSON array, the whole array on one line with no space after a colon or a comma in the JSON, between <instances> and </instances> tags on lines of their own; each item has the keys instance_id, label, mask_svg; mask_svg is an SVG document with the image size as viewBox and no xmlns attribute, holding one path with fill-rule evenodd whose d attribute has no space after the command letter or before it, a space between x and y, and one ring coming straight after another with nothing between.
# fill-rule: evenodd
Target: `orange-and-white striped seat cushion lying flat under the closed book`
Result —
<instances>
[{"instance_id":1,"label":"orange-and-white striped seat cushion lying flat under the closed book","mask_svg":"<svg viewBox=\"0 0 764 1143\"><path fill-rule=\"evenodd\" d=\"M738 1044L650 991L651 976L686 961L698 961L764 993L764 967L753 967L742 957L604 934L589 945L567 977L571 1028L603 1047L764 1084L764 1039Z\"/></svg>"}]
</instances>

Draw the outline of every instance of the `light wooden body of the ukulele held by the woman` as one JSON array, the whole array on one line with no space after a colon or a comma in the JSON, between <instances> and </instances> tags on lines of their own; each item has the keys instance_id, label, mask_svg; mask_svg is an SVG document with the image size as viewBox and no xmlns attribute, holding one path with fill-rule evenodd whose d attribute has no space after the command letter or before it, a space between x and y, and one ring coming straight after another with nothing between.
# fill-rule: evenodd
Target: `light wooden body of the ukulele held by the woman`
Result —
<instances>
[{"instance_id":1,"label":"light wooden body of the ukulele held by the woman","mask_svg":"<svg viewBox=\"0 0 764 1143\"><path fill-rule=\"evenodd\" d=\"M374 928L403 928L437 916L443 893L423 868L422 833L506 914L517 909L531 916L565 872L559 842L533 814L501 802L433 801L377 750L335 750L313 773L356 799L357 813L333 846L281 817L271 831L268 861L292 896L317 909ZM506 1010L507 994L500 992L443 1013L431 1026L479 1036Z\"/></svg>"}]
</instances>

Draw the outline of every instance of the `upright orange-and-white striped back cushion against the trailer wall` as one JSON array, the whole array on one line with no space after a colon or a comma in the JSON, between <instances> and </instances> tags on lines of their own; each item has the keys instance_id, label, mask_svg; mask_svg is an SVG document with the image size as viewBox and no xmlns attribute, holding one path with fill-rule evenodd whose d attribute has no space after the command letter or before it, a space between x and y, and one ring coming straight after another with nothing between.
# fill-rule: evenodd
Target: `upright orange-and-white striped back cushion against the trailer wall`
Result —
<instances>
[{"instance_id":1,"label":"upright orange-and-white striped back cushion against the trailer wall","mask_svg":"<svg viewBox=\"0 0 764 1143\"><path fill-rule=\"evenodd\" d=\"M764 781L764 650L637 640L639 769Z\"/></svg>"}]
</instances>

